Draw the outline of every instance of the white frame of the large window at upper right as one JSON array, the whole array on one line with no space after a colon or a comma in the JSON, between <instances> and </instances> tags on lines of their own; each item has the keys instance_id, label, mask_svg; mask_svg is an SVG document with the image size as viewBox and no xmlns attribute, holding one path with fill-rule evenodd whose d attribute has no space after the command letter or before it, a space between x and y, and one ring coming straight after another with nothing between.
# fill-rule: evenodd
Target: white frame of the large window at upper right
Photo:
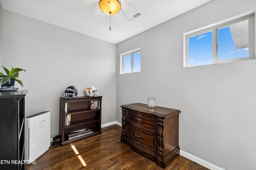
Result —
<instances>
[{"instance_id":1,"label":"white frame of the large window at upper right","mask_svg":"<svg viewBox=\"0 0 256 170\"><path fill-rule=\"evenodd\" d=\"M232 23L237 23L240 21L244 21L248 19L248 35L249 35L249 56L248 57L241 57L241 58L235 58L235 59L226 59L226 60L219 60L218 61L218 29L221 29L223 27L226 27L228 25L231 25ZM189 66L189 59L188 59L188 39L190 37L194 37L200 34L204 34L207 32L212 31L212 63L210 64L216 64L216 63L227 63L227 62L233 62L233 61L242 61L242 60L250 60L255 59L255 13L250 12L247 14L244 14L242 16L237 16L234 18L230 18L228 20L224 20L212 25L209 25L207 27L203 27L194 31L190 31L188 33L184 33L184 57L183 57L183 67L191 67ZM206 64L204 64L206 65ZM201 65L195 65L195 66L201 66Z\"/></svg>"}]
</instances>

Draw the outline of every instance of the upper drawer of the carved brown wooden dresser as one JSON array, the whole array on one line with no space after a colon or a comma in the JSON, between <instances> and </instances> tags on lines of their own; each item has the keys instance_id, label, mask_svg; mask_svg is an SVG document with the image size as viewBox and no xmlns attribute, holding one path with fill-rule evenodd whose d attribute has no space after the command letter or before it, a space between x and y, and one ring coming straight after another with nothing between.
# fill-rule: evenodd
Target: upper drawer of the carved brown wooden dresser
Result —
<instances>
[{"instance_id":1,"label":"upper drawer of the carved brown wooden dresser","mask_svg":"<svg viewBox=\"0 0 256 170\"><path fill-rule=\"evenodd\" d=\"M150 117L150 116L142 115L135 111L128 110L127 121L129 123L137 125L139 127L143 127L148 130L153 130L155 133L157 132L157 118L156 117Z\"/></svg>"}]
</instances>

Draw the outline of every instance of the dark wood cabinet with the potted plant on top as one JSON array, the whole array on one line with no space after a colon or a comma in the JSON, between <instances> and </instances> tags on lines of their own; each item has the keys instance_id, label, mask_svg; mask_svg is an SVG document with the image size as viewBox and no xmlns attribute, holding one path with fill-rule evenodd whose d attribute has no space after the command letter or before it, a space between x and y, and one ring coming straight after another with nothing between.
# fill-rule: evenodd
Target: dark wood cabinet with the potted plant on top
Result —
<instances>
[{"instance_id":1,"label":"dark wood cabinet with the potted plant on top","mask_svg":"<svg viewBox=\"0 0 256 170\"><path fill-rule=\"evenodd\" d=\"M0 92L0 169L24 170L25 96L28 90Z\"/></svg>"}]
</instances>

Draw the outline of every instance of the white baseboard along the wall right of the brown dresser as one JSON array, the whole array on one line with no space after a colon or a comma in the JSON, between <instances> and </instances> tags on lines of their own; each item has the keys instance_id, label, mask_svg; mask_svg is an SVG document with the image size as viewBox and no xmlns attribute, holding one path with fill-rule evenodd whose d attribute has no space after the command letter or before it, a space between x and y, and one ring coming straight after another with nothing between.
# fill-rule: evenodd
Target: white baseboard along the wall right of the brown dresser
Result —
<instances>
[{"instance_id":1,"label":"white baseboard along the wall right of the brown dresser","mask_svg":"<svg viewBox=\"0 0 256 170\"><path fill-rule=\"evenodd\" d=\"M188 159L190 159L190 160L192 160L192 161L194 161L194 162L196 162L196 163L198 163L198 164L200 164L200 165L202 165L206 168L209 168L210 170L225 170L225 169L220 168L220 167L218 167L214 164L211 164L210 162L207 162L205 160L202 160L201 158L198 158L198 157L196 157L192 154L189 154L189 153L187 153L183 150L180 150L180 155L184 156L185 158L188 158Z\"/></svg>"}]
</instances>

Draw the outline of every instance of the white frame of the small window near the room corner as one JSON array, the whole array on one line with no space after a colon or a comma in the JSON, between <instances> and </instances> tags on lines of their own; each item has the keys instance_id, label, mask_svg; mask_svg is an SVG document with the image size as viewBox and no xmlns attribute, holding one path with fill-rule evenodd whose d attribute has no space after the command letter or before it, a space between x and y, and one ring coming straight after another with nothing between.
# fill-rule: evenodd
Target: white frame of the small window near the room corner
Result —
<instances>
[{"instance_id":1,"label":"white frame of the small window near the room corner","mask_svg":"<svg viewBox=\"0 0 256 170\"><path fill-rule=\"evenodd\" d=\"M131 72L129 73L133 73L133 72L140 72L140 70L134 71L133 67L134 67L134 63L133 63L133 55L140 52L140 48L132 50L132 51L128 51L126 53L123 53L120 55L120 74L128 74L124 72L124 57L131 55ZM140 55L140 59L141 59L141 55Z\"/></svg>"}]
</instances>

